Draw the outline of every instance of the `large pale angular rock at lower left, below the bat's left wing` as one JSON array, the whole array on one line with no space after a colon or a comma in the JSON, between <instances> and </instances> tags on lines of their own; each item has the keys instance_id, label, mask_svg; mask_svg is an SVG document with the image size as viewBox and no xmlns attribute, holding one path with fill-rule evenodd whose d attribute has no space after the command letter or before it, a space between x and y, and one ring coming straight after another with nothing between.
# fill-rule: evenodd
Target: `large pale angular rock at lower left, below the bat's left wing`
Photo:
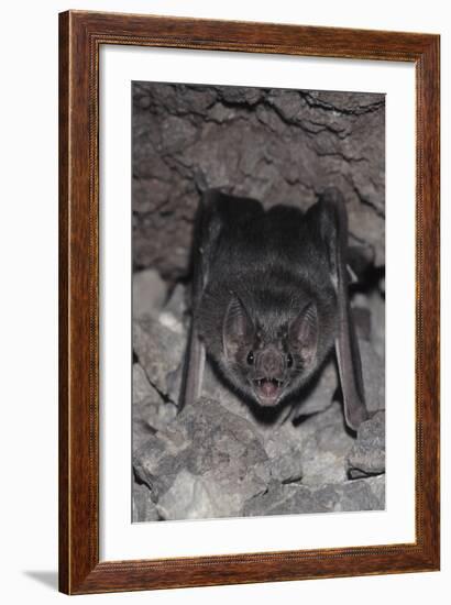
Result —
<instances>
[{"instance_id":1,"label":"large pale angular rock at lower left, below the bat's left wing","mask_svg":"<svg viewBox=\"0 0 451 605\"><path fill-rule=\"evenodd\" d=\"M229 517L265 491L256 469L266 460L250 422L202 398L182 411L176 427L151 437L133 466L163 518Z\"/></svg>"}]
</instances>

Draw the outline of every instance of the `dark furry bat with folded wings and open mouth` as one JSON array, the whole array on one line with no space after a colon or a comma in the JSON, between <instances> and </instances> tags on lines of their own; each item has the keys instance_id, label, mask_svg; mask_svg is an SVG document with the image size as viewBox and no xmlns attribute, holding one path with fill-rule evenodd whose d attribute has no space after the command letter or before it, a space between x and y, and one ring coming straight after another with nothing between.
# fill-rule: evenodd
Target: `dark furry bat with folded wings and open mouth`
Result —
<instances>
[{"instance_id":1,"label":"dark furry bat with folded wings and open mouth","mask_svg":"<svg viewBox=\"0 0 451 605\"><path fill-rule=\"evenodd\" d=\"M334 349L344 416L367 418L348 297L348 216L327 189L302 213L207 191L194 245L193 322L182 406L200 393L205 354L245 399L274 407L320 370Z\"/></svg>"}]
</instances>

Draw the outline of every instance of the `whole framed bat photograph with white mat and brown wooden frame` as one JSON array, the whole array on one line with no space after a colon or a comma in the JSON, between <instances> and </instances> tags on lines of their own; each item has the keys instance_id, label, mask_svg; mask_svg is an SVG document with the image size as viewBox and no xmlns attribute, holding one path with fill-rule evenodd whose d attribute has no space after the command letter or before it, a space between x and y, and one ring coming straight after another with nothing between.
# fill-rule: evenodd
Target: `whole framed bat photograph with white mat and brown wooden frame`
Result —
<instances>
[{"instance_id":1,"label":"whole framed bat photograph with white mat and brown wooden frame","mask_svg":"<svg viewBox=\"0 0 451 605\"><path fill-rule=\"evenodd\" d=\"M59 588L438 570L438 35L59 15Z\"/></svg>"}]
</instances>

